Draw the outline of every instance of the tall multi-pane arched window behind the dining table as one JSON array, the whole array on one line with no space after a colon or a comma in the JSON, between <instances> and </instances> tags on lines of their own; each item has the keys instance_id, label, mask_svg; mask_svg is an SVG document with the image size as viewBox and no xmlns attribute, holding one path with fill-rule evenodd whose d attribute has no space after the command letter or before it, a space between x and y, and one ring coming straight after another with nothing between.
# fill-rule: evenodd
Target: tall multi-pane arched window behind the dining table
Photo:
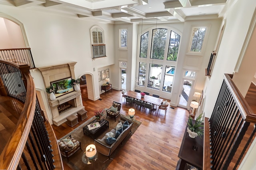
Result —
<instances>
[{"instance_id":1,"label":"tall multi-pane arched window behind the dining table","mask_svg":"<svg viewBox=\"0 0 256 170\"><path fill-rule=\"evenodd\" d=\"M140 36L138 86L171 93L179 44L180 35L168 28L154 28Z\"/></svg>"}]
</instances>

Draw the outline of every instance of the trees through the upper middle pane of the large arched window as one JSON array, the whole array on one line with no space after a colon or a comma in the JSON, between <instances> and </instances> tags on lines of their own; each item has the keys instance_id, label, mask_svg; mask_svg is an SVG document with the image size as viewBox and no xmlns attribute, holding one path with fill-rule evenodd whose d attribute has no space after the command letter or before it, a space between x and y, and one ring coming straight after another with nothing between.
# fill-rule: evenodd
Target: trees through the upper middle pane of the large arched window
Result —
<instances>
[{"instance_id":1,"label":"trees through the upper middle pane of the large arched window","mask_svg":"<svg viewBox=\"0 0 256 170\"><path fill-rule=\"evenodd\" d=\"M152 55L153 59L164 59L165 41L167 29L158 28L152 30Z\"/></svg>"}]
</instances>

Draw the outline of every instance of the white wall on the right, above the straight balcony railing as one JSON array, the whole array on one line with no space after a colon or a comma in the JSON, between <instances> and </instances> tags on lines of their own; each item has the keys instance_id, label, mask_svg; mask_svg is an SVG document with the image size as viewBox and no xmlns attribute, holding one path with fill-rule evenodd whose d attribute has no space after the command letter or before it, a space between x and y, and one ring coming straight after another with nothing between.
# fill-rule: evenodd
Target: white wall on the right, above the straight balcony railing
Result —
<instances>
[{"instance_id":1,"label":"white wall on the right, above the straight balcony railing","mask_svg":"<svg viewBox=\"0 0 256 170\"><path fill-rule=\"evenodd\" d=\"M205 107L206 117L210 117L218 92L223 81L224 73L232 74L244 43L250 20L256 6L256 1L236 1L225 16L226 27L224 29L216 62L212 70L212 76L205 83Z\"/></svg>"}]
</instances>

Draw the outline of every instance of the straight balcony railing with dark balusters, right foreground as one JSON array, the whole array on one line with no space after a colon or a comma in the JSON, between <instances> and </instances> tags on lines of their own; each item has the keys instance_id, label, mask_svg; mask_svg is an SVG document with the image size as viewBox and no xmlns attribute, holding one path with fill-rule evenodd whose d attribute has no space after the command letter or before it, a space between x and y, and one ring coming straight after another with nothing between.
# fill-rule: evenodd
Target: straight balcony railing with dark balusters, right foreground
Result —
<instances>
[{"instance_id":1,"label":"straight balcony railing with dark balusters, right foreground","mask_svg":"<svg viewBox=\"0 0 256 170\"><path fill-rule=\"evenodd\" d=\"M212 116L205 123L203 169L237 169L255 137L256 115L231 77L224 75Z\"/></svg>"}]
</instances>

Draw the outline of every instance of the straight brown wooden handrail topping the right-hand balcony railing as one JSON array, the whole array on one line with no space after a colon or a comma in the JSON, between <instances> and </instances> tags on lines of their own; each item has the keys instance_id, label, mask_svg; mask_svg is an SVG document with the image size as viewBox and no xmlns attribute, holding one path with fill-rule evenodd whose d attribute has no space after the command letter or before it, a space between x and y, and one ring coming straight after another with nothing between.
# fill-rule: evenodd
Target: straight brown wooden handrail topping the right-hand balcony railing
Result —
<instances>
[{"instance_id":1,"label":"straight brown wooden handrail topping the right-hand balcony railing","mask_svg":"<svg viewBox=\"0 0 256 170\"><path fill-rule=\"evenodd\" d=\"M227 86L230 89L236 104L241 112L241 115L246 122L256 123L256 114L252 111L251 107L248 105L247 101L244 99L234 82L232 81L232 75L224 74L224 80L227 82Z\"/></svg>"}]
</instances>

